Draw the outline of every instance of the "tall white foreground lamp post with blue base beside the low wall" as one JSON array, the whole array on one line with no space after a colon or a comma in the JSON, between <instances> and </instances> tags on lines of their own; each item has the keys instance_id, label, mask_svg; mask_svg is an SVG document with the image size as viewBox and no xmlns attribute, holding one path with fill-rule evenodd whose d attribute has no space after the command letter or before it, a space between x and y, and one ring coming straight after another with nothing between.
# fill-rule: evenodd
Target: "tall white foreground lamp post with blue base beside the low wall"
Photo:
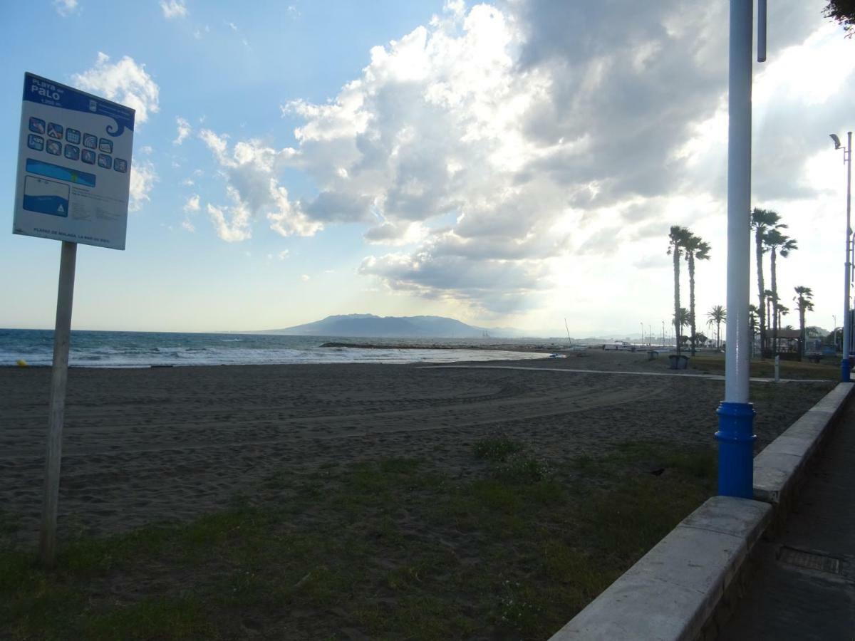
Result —
<instances>
[{"instance_id":1,"label":"tall white foreground lamp post with blue base beside the low wall","mask_svg":"<svg viewBox=\"0 0 855 641\"><path fill-rule=\"evenodd\" d=\"M754 408L748 301L751 257L751 92L754 0L730 0L728 71L728 319L724 400L718 406L718 493L753 495ZM766 59L766 2L758 0L758 62Z\"/></svg>"}]
</instances>

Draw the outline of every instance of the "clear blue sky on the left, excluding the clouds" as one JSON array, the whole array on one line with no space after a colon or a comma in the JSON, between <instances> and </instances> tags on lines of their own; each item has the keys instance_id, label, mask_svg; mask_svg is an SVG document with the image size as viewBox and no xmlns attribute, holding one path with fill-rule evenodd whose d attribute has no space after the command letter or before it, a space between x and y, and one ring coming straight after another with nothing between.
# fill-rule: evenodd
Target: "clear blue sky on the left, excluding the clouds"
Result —
<instances>
[{"instance_id":1,"label":"clear blue sky on the left, excluding the clouds","mask_svg":"<svg viewBox=\"0 0 855 641\"><path fill-rule=\"evenodd\" d=\"M199 15L190 4L189 15L172 20L156 2L80 2L66 16L51 3L41 3L40 9L35 4L6 5L0 28L12 56L0 74L3 85L14 91L3 92L0 103L5 139L13 141L18 135L24 71L72 83L74 74L92 68L103 52L110 62L129 56L144 65L159 89L158 110L138 127L134 140L134 160L150 162L156 183L150 199L131 213L127 251L80 248L74 326L255 329L268 326L263 323L284 326L292 319L311 320L314 314L327 313L325 304L328 313L337 310L324 303L321 290L340 291L341 281L352 279L352 264L362 258L358 234L333 229L326 238L304 238L295 244L291 238L257 233L249 246L220 242L204 221L196 225L197 232L186 232L181 228L186 199L208 191L221 198L222 190L212 175L215 166L208 150L193 145L192 138L180 147L173 141L176 118L183 117L194 128L204 119L205 126L217 132L293 144L298 119L283 118L280 104L297 98L323 103L334 97L360 73L373 44L409 32L441 9L439 3L378 2L365 15L357 4L293 3L289 10L289 5L274 2L240 7L199 3ZM32 26L34 11L39 14L38 33L74 34L76 45L39 39L34 46L33 32L26 28ZM86 33L91 36L81 37ZM145 147L150 153L142 151ZM15 144L0 146L7 176L15 173L15 155ZM197 170L204 175L194 175ZM311 180L300 173L292 172L289 178L295 194L315 192ZM186 179L195 185L182 185ZM12 181L0 184L0 199L11 203L13 197ZM21 266L28 276L3 285L9 305L3 306L0 325L51 326L58 244L5 235L2 242L3 262ZM287 262L278 258L284 250ZM304 274L314 282L304 282ZM316 298L314 309L297 309L307 297ZM339 304L348 297L336 298ZM353 305L363 309L357 299ZM277 314L283 309L284 315Z\"/></svg>"}]
</instances>

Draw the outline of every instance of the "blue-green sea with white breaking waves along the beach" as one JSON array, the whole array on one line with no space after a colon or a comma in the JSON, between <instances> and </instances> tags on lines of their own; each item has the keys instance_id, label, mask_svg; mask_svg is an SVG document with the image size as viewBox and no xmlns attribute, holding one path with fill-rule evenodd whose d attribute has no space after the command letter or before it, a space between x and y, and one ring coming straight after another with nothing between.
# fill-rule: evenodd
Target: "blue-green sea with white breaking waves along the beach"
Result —
<instances>
[{"instance_id":1,"label":"blue-green sea with white breaking waves along the beach","mask_svg":"<svg viewBox=\"0 0 855 641\"><path fill-rule=\"evenodd\" d=\"M325 343L372 344L379 347L323 347ZM505 345L537 341L513 339ZM540 340L540 343L543 343ZM432 349L454 344L455 349ZM384 346L385 345L385 346ZM399 349L407 345L412 349ZM145 368L181 365L251 365L264 363L462 362L543 358L543 353L506 351L501 339L348 338L280 334L71 332L69 364L82 368ZM485 347L492 349L486 350ZM550 349L550 348L546 348ZM50 330L0 329L0 366L19 359L32 366L53 362Z\"/></svg>"}]
</instances>

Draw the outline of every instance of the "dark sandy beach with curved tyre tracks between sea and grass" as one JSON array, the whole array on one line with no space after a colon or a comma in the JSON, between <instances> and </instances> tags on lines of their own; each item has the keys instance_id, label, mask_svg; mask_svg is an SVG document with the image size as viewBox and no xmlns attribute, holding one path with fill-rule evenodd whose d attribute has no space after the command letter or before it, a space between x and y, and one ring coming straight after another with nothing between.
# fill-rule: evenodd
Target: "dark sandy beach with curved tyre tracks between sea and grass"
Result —
<instances>
[{"instance_id":1,"label":"dark sandy beach with curved tyre tracks between sea and grass","mask_svg":"<svg viewBox=\"0 0 855 641\"><path fill-rule=\"evenodd\" d=\"M187 520L252 492L275 470L419 457L465 478L471 444L521 439L559 471L615 444L714 446L723 383L687 376L569 373L657 371L644 354L491 368L289 365L83 369L68 379L61 536ZM502 366L508 366L504 369ZM0 504L35 540L41 509L48 368L0 368ZM757 449L832 384L752 384Z\"/></svg>"}]
</instances>

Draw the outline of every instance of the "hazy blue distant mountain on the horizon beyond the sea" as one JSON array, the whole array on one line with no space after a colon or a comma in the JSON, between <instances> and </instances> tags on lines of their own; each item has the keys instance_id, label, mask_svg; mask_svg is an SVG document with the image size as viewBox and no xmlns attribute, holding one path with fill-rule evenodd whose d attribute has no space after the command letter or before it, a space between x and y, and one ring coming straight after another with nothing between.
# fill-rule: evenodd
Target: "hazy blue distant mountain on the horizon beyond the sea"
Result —
<instances>
[{"instance_id":1,"label":"hazy blue distant mountain on the horizon beyond the sea","mask_svg":"<svg viewBox=\"0 0 855 641\"><path fill-rule=\"evenodd\" d=\"M506 327L476 327L443 316L373 314L327 316L322 321L257 333L363 338L484 338L486 334L490 338L518 338L523 335L522 332Z\"/></svg>"}]
</instances>

